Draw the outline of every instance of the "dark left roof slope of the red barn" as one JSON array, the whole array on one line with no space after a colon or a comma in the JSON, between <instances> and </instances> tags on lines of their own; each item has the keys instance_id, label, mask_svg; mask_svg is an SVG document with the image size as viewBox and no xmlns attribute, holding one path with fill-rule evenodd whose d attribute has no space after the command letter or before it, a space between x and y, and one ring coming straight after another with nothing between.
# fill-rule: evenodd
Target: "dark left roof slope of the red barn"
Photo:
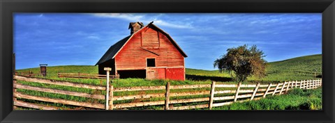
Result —
<instances>
[{"instance_id":1,"label":"dark left roof slope of the red barn","mask_svg":"<svg viewBox=\"0 0 335 123\"><path fill-rule=\"evenodd\" d=\"M128 35L126 38L119 40L119 42L113 44L110 49L108 49L106 51L106 53L103 55L103 57L100 58L100 60L98 61L98 63L96 63L96 65L101 64L101 63L105 63L105 61L110 60L113 58L113 56L115 56L115 54L117 54L117 51L119 51L121 49L122 46L124 46L124 44L127 42L127 40L131 38L131 35Z\"/></svg>"}]
</instances>

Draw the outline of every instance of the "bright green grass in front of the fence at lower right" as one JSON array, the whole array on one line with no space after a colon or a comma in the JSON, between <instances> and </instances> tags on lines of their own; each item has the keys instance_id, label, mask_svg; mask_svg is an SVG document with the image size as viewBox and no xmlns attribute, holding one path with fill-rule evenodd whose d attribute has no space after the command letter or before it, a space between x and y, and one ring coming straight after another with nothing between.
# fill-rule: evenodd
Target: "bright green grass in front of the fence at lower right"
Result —
<instances>
[{"instance_id":1,"label":"bright green grass in front of the fence at lower right","mask_svg":"<svg viewBox=\"0 0 335 123\"><path fill-rule=\"evenodd\" d=\"M271 96L258 101L245 101L214 110L322 110L322 88L290 90L287 95Z\"/></svg>"}]
</instances>

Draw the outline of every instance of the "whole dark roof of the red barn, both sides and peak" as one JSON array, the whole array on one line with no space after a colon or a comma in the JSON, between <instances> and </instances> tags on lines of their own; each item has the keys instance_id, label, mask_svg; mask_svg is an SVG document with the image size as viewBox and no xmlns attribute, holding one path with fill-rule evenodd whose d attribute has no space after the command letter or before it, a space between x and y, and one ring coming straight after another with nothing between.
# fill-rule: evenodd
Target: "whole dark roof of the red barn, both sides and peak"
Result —
<instances>
[{"instance_id":1,"label":"whole dark roof of the red barn, both sides and peak","mask_svg":"<svg viewBox=\"0 0 335 123\"><path fill-rule=\"evenodd\" d=\"M141 22L138 22L138 23L141 23ZM154 26L154 27L158 28L158 26L152 24L152 22L150 24L148 24L147 26ZM158 29L161 30L162 33L164 33L172 41L172 44L174 45L174 47L177 47L178 51L184 57L187 57L187 55L185 54L185 52L179 47L179 45L177 44L177 42L175 42L168 33L166 33L165 31L163 31L163 29L161 29L161 28L158 28ZM110 49L108 49L106 51L106 53L103 55L103 57L100 58L100 60L98 61L98 63L96 63L96 65L99 65L101 63L105 63L107 60L110 60L110 59L114 58L114 56L118 53L118 51L121 50L121 48L124 46L124 44L126 44L126 42L129 40L129 38L131 38L131 36L132 35L128 35L126 38L124 38L124 39L120 40L119 42L113 44L110 47Z\"/></svg>"}]
</instances>

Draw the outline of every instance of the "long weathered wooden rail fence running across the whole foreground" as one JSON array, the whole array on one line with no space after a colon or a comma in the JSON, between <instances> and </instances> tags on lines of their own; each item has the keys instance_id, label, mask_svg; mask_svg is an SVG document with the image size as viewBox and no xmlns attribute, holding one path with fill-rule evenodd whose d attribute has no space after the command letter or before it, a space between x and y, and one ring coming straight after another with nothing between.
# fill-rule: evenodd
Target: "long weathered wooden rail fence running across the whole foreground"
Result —
<instances>
[{"instance_id":1,"label":"long weathered wooden rail fence running across the whole foreground","mask_svg":"<svg viewBox=\"0 0 335 123\"><path fill-rule=\"evenodd\" d=\"M31 104L24 101L18 101L16 98L22 99L32 99L37 101L47 101L58 104L67 104L73 106L83 106L88 108L97 108L105 110L113 109L124 109L133 108L140 106L158 106L161 105L165 110L184 110L192 108L213 108L216 106L224 106L232 104L236 101L250 101L255 99L265 98L267 95L282 95L292 88L301 89L314 89L322 85L322 80L304 80L304 81L289 81L284 83L269 83L267 85L262 85L260 83L253 85L242 85L238 84L222 84L213 81L211 84L202 85L167 85L163 86L137 86L137 87L122 87L114 88L113 85L109 86L109 101L108 107L106 109L105 104L91 103L91 102L80 102L80 101L70 101L65 99L52 99L49 97L37 97L31 95L25 95L20 92L16 92L17 88L24 90L36 90L40 92L51 92L61 95L72 95L77 97L87 97L91 99L106 99L105 95L92 95L84 92L72 92L66 90L56 90L50 88L40 88L33 87L30 85L23 85L17 83L16 81L29 81L34 83L47 83L52 85L65 85L76 88L89 88L94 90L106 90L107 88L101 85L89 85L84 83L73 83L67 81L56 81L51 79L40 79L27 76L14 76L13 85L13 98L14 106L22 106L27 108L38 108L43 110L57 110L61 109L58 107L45 106L41 104ZM197 90L197 89L205 90ZM193 91L188 91L188 89L195 89ZM161 93L152 94L135 94L135 95L125 95L117 96L114 92L134 92L134 91L148 91L148 90L161 90ZM172 91L171 91L172 90ZM186 92L177 90L187 90ZM145 93L145 92L144 92ZM190 97L194 98L179 99L176 97ZM197 97L198 96L198 97ZM143 102L128 102L124 104L114 104L114 101L122 101L129 99L151 99L151 98L163 98L163 100L158 101L143 101ZM193 104L194 102L200 102L199 104ZM174 104L180 104L179 106L173 106ZM191 106L189 106L191 105Z\"/></svg>"}]
</instances>

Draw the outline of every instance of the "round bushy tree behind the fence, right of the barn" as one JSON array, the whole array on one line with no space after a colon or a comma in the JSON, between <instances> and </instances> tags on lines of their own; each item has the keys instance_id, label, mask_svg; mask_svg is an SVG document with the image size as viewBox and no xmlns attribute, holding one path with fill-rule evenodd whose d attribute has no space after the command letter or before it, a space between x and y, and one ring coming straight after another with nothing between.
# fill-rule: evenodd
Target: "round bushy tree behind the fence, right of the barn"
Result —
<instances>
[{"instance_id":1,"label":"round bushy tree behind the fence, right of the barn","mask_svg":"<svg viewBox=\"0 0 335 123\"><path fill-rule=\"evenodd\" d=\"M248 49L244 44L237 48L227 49L227 54L214 61L214 68L220 72L227 70L236 81L245 81L248 76L264 77L267 61L264 53L255 45Z\"/></svg>"}]
</instances>

